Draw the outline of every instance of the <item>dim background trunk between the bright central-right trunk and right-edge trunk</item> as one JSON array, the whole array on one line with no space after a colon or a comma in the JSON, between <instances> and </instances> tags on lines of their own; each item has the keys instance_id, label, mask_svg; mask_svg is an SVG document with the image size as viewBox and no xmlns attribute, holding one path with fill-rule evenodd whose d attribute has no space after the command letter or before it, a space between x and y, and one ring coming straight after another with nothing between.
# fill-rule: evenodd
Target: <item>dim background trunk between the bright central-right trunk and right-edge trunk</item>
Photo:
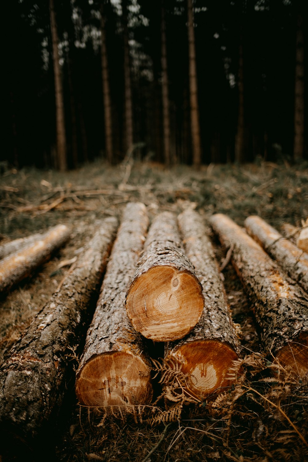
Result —
<instances>
[{"instance_id":1,"label":"dim background trunk between the bright central-right trunk and right-edge trunk","mask_svg":"<svg viewBox=\"0 0 308 462\"><path fill-rule=\"evenodd\" d=\"M243 45L242 37L239 47L239 67L238 67L238 116L237 131L235 139L235 161L244 161L244 90L243 90Z\"/></svg>"}]
</instances>

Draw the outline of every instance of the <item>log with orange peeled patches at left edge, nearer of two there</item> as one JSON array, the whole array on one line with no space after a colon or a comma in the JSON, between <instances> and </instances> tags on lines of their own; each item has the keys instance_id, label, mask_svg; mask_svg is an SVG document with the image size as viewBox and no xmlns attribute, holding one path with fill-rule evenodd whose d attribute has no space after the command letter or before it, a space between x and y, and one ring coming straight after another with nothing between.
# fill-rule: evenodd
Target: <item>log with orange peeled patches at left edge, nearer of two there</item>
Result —
<instances>
[{"instance_id":1,"label":"log with orange peeled patches at left edge, nearer of two there","mask_svg":"<svg viewBox=\"0 0 308 462\"><path fill-rule=\"evenodd\" d=\"M43 234L35 243L8 255L0 261L0 292L30 276L38 266L49 260L52 253L69 238L70 230L58 225Z\"/></svg>"}]
</instances>

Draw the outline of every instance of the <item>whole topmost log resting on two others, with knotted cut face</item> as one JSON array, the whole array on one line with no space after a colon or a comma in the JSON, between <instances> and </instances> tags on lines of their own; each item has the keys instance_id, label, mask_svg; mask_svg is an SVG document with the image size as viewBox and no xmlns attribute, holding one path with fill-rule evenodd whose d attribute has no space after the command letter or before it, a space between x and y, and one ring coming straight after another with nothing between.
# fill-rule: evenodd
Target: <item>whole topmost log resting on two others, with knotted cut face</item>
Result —
<instances>
[{"instance_id":1,"label":"whole topmost log resting on two others, with knotted cut face","mask_svg":"<svg viewBox=\"0 0 308 462\"><path fill-rule=\"evenodd\" d=\"M177 340L199 321L203 304L202 287L184 254L176 216L160 213L127 291L127 315L146 338Z\"/></svg>"}]
</instances>

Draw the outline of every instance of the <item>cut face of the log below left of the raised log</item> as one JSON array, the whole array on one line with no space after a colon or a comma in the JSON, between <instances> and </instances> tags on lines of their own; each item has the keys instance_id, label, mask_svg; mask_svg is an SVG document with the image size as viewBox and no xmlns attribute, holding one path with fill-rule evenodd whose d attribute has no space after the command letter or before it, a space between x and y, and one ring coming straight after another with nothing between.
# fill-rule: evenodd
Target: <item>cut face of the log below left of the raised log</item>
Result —
<instances>
[{"instance_id":1,"label":"cut face of the log below left of the raised log","mask_svg":"<svg viewBox=\"0 0 308 462\"><path fill-rule=\"evenodd\" d=\"M92 358L76 381L79 403L89 407L147 404L152 398L150 369L129 352L108 352Z\"/></svg>"}]
</instances>

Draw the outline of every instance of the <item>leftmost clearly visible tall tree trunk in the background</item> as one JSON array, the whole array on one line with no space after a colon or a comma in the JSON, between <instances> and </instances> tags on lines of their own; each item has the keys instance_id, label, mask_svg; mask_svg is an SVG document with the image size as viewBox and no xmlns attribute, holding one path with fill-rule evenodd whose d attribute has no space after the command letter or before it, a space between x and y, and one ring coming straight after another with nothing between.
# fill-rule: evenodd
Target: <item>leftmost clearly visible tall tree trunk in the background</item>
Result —
<instances>
[{"instance_id":1,"label":"leftmost clearly visible tall tree trunk in the background","mask_svg":"<svg viewBox=\"0 0 308 462\"><path fill-rule=\"evenodd\" d=\"M58 32L54 12L54 0L49 0L50 30L52 40L52 55L54 67L54 92L55 92L55 116L56 116L56 143L57 143L57 168L60 171L67 169L66 158L66 134L63 104L62 77L58 53Z\"/></svg>"}]
</instances>

